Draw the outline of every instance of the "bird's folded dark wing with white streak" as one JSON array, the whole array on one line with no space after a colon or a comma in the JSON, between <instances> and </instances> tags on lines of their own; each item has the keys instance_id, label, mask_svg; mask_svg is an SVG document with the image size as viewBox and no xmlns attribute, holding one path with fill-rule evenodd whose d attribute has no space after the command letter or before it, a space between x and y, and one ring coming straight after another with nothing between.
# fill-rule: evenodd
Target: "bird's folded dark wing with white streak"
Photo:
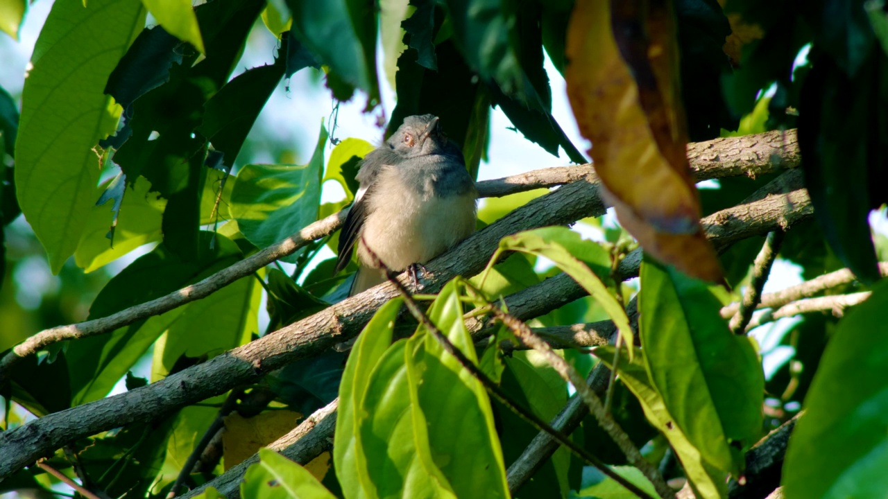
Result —
<instances>
[{"instance_id":1,"label":"bird's folded dark wing with white streak","mask_svg":"<svg viewBox=\"0 0 888 499\"><path fill-rule=\"evenodd\" d=\"M356 178L361 182L358 192L354 195L352 209L348 210L345 217L345 224L342 226L342 233L339 234L339 256L336 261L336 270L338 273L348 265L352 259L352 251L354 243L358 242L361 237L361 227L364 226L364 219L368 215L369 198L373 195L373 186L375 185L379 171L388 164L392 164L395 159L392 152L385 147L380 147L367 154L361 161L361 170L358 171Z\"/></svg>"}]
</instances>

